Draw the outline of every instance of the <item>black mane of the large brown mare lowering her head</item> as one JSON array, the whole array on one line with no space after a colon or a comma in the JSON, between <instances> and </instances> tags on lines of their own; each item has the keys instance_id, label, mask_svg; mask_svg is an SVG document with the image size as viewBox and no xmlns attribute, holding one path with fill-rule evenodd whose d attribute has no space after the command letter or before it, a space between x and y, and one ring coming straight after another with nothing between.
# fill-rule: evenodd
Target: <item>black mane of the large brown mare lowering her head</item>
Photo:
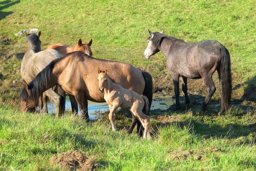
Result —
<instances>
[{"instance_id":1,"label":"black mane of the large brown mare lowering her head","mask_svg":"<svg viewBox=\"0 0 256 171\"><path fill-rule=\"evenodd\" d=\"M42 89L49 85L49 81L52 74L52 69L56 62L60 59L56 59L48 64L37 76L28 84L28 90L30 92L30 98L35 101L39 98L42 93ZM22 88L20 99L27 99L28 94L25 88Z\"/></svg>"}]
</instances>

